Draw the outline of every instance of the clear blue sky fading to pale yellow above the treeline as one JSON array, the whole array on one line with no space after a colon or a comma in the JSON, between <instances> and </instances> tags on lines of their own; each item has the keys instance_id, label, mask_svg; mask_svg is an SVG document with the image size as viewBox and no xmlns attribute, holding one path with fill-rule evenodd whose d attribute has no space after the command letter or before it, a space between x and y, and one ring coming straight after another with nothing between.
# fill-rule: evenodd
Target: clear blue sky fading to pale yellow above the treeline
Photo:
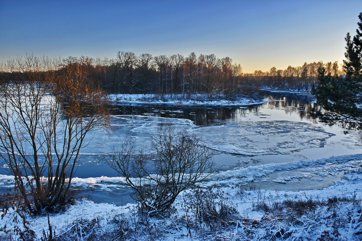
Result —
<instances>
[{"instance_id":1,"label":"clear blue sky fading to pale yellow above the treeline","mask_svg":"<svg viewBox=\"0 0 362 241\"><path fill-rule=\"evenodd\" d=\"M231 57L245 73L338 61L355 34L361 0L9 1L0 0L0 62L48 57Z\"/></svg>"}]
</instances>

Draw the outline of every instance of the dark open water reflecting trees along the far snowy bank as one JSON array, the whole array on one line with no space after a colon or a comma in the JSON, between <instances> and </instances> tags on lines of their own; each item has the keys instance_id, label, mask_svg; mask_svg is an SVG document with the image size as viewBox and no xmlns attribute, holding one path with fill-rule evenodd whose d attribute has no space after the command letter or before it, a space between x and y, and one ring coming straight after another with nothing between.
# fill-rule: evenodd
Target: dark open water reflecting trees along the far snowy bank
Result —
<instances>
[{"instance_id":1,"label":"dark open water reflecting trees along the far snowy bank","mask_svg":"<svg viewBox=\"0 0 362 241\"><path fill-rule=\"evenodd\" d=\"M266 98L274 100L263 104L264 108L283 109L286 114L292 115L297 113L300 120L308 119L313 124L318 121L310 116L311 108L320 108L313 102L312 95L296 95L291 93L273 93L265 94ZM194 121L196 125L214 125L218 124L217 120L239 121L247 119L251 115L258 115L260 105L240 108L233 107L208 107L208 106L115 106L114 115L141 115L166 118L182 118Z\"/></svg>"}]
</instances>

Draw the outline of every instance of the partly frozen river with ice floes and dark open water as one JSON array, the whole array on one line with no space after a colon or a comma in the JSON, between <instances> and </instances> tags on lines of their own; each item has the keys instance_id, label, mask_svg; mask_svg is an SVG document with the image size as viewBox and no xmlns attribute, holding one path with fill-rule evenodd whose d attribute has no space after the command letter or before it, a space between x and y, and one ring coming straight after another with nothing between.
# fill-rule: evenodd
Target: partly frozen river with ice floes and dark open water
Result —
<instances>
[{"instance_id":1,"label":"partly frozen river with ice floes and dark open water","mask_svg":"<svg viewBox=\"0 0 362 241\"><path fill-rule=\"evenodd\" d=\"M115 106L111 135L94 133L82 150L75 177L94 201L130 201L130 190L104 156L123 137L147 145L159 125L172 125L203 137L216 151L221 171L216 185L252 185L262 189L316 189L340 180L344 171L361 163L358 132L344 134L338 126L326 126L310 117L314 96L263 92L271 102L257 106ZM9 174L6 169L1 174ZM206 184L209 185L209 184ZM210 182L211 185L211 182ZM98 190L98 191L97 191ZM104 191L99 191L104 190Z\"/></svg>"}]
</instances>

